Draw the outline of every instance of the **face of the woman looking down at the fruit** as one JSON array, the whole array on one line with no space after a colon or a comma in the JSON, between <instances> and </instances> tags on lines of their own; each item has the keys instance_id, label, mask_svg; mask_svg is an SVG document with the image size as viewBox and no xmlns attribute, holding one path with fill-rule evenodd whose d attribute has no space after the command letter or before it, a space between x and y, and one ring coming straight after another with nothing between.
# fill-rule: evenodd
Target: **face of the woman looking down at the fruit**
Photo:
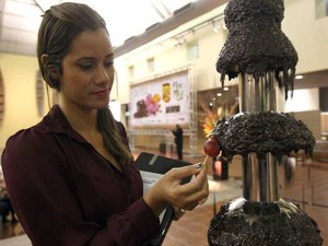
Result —
<instances>
[{"instance_id":1,"label":"face of the woman looking down at the fruit","mask_svg":"<svg viewBox=\"0 0 328 246\"><path fill-rule=\"evenodd\" d=\"M114 82L113 61L113 48L105 30L79 34L62 60L61 103L81 109L107 107Z\"/></svg>"}]
</instances>

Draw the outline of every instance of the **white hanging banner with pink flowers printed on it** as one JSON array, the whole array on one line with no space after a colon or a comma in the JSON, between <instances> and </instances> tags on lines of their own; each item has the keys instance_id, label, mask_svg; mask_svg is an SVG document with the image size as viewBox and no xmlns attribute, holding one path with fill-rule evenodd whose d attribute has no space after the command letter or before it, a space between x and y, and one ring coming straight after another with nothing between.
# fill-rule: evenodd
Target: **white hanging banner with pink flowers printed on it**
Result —
<instances>
[{"instance_id":1,"label":"white hanging banner with pink flowers printed on it","mask_svg":"<svg viewBox=\"0 0 328 246\"><path fill-rule=\"evenodd\" d=\"M132 128L187 126L190 119L188 71L145 81L130 87Z\"/></svg>"}]
</instances>

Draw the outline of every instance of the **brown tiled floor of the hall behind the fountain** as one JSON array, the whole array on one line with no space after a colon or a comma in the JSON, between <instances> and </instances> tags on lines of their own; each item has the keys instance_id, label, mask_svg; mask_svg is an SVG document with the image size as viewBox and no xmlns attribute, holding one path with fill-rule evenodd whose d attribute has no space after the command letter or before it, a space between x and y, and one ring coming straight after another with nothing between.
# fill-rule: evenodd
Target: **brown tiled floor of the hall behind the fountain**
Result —
<instances>
[{"instance_id":1,"label":"brown tiled floor of the hall behind the fountain","mask_svg":"<svg viewBox=\"0 0 328 246\"><path fill-rule=\"evenodd\" d=\"M136 155L138 155L136 151ZM174 157L174 156L173 156ZM191 163L203 161L204 156L190 157L185 160ZM208 165L210 165L208 163ZM209 179L211 179L211 168L208 168ZM291 180L284 179L284 169L280 173L280 196L293 200L317 223L321 230L324 246L328 246L328 163L297 163L293 166ZM208 201L187 212L179 221L174 221L163 246L207 246L207 232L215 208L231 198L242 196L242 168L238 161L230 164L227 180L210 180L211 196ZM213 190L215 189L215 196ZM20 224L7 223L0 230L0 238L20 235L23 233ZM3 243L3 241L2 241ZM1 242L0 242L1 244ZM3 246L14 244L1 244ZM22 245L21 246L25 246Z\"/></svg>"}]
</instances>

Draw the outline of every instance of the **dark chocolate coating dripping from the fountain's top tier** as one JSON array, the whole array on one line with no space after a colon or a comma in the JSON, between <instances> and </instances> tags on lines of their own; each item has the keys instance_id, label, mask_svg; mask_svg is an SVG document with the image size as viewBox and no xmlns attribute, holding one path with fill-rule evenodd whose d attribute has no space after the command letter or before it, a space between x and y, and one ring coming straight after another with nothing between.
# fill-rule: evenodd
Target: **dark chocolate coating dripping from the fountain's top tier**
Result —
<instances>
[{"instance_id":1,"label":"dark chocolate coating dripping from the fountain's top tier","mask_svg":"<svg viewBox=\"0 0 328 246\"><path fill-rule=\"evenodd\" d=\"M285 91L293 90L297 52L281 31L283 0L231 0L224 10L226 42L219 55L216 70L223 85L238 73L257 80L274 71ZM281 74L282 73L282 74Z\"/></svg>"}]
</instances>

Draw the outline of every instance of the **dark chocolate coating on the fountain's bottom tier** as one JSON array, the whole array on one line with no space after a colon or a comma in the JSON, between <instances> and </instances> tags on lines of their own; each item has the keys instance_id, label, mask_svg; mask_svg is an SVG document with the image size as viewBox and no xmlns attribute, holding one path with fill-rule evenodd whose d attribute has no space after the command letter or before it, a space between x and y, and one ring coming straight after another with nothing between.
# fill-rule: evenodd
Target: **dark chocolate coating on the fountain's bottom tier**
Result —
<instances>
[{"instance_id":1,"label":"dark chocolate coating on the fountain's bottom tier","mask_svg":"<svg viewBox=\"0 0 328 246\"><path fill-rule=\"evenodd\" d=\"M245 206L231 213L229 206L223 204L211 220L209 246L323 245L317 223L296 207L272 209L276 203L249 202L247 209L256 207L253 213L246 213Z\"/></svg>"}]
</instances>

